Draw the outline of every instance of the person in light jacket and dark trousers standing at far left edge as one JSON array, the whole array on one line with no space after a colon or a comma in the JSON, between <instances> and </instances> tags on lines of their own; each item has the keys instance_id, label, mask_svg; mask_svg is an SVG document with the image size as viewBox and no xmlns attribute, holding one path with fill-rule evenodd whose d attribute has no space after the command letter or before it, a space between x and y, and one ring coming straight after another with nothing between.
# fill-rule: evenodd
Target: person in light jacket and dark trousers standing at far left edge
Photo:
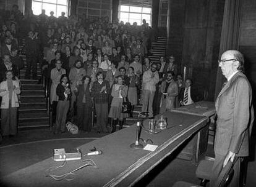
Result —
<instances>
[{"instance_id":1,"label":"person in light jacket and dark trousers standing at far left edge","mask_svg":"<svg viewBox=\"0 0 256 187\"><path fill-rule=\"evenodd\" d=\"M17 108L19 107L20 84L11 70L6 71L6 78L0 84L1 133L3 137L17 134Z\"/></svg>"}]
</instances>

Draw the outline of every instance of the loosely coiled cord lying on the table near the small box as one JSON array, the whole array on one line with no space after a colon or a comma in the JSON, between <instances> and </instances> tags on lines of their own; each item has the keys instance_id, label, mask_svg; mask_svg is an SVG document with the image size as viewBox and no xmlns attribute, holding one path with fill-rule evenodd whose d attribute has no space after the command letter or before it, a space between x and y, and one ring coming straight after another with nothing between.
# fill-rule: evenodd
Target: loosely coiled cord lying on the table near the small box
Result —
<instances>
[{"instance_id":1,"label":"loosely coiled cord lying on the table near the small box","mask_svg":"<svg viewBox=\"0 0 256 187\"><path fill-rule=\"evenodd\" d=\"M82 166L80 166L80 167L78 167L77 169L72 170L71 172L64 173L63 175L54 175L54 174L52 174L52 172L53 172L54 170L59 169L59 168L61 168L61 167L64 167L64 166L66 165L67 161L65 160L65 161L64 161L61 165L59 165L59 166L49 167L49 169L47 169L47 170L45 171L45 172L46 172L45 177L51 177L51 178L53 178L53 179L56 180L56 181L61 181L61 180L72 181L72 180L75 179L75 177L74 177L75 173L74 173L74 172L76 172L77 170L80 170L80 169L82 169L83 167L86 167L86 166L88 166L88 165L92 165L93 168L96 168L96 167L97 167L97 165L95 164L95 162L94 162L93 160L91 160L91 159L86 159L86 160L83 160L82 162L85 163L85 164L82 165ZM70 175L73 176L73 177L70 177Z\"/></svg>"}]
</instances>

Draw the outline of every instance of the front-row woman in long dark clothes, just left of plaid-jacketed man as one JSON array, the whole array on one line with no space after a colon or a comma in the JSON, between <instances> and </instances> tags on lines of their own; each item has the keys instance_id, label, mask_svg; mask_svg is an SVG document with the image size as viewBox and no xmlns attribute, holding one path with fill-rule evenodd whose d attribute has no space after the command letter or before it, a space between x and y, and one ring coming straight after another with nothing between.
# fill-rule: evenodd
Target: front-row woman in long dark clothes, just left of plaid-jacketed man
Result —
<instances>
[{"instance_id":1,"label":"front-row woman in long dark clothes, just left of plaid-jacketed man","mask_svg":"<svg viewBox=\"0 0 256 187\"><path fill-rule=\"evenodd\" d=\"M83 84L77 87L77 121L79 129L85 132L92 130L92 85L91 78L84 76Z\"/></svg>"}]
</instances>

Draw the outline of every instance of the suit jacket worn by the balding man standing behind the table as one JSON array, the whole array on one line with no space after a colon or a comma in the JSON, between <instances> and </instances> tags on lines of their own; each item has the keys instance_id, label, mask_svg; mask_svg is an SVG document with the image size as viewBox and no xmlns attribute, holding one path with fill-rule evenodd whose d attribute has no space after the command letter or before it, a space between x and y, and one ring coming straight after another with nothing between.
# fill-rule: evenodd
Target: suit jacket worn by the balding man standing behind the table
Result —
<instances>
[{"instance_id":1,"label":"suit jacket worn by the balding man standing behind the table","mask_svg":"<svg viewBox=\"0 0 256 187\"><path fill-rule=\"evenodd\" d=\"M248 156L254 108L252 88L243 73L239 71L227 82L215 106L218 115L215 153L226 156L232 151L237 156Z\"/></svg>"}]
</instances>

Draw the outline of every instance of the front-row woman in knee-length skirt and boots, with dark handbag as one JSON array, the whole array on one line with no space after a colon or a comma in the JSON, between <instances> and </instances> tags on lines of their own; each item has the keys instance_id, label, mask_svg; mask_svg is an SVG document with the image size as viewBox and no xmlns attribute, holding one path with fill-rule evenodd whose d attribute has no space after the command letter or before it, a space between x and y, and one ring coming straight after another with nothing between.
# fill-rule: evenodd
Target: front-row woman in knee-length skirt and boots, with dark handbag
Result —
<instances>
[{"instance_id":1,"label":"front-row woman in knee-length skirt and boots, with dark handbag","mask_svg":"<svg viewBox=\"0 0 256 187\"><path fill-rule=\"evenodd\" d=\"M127 113L122 113L122 103L126 100L128 87L124 85L124 78L117 76L117 84L113 85L111 95L113 100L108 117L113 119L112 132L116 131L117 120L119 120L119 129L122 129L124 118L129 117Z\"/></svg>"}]
</instances>

